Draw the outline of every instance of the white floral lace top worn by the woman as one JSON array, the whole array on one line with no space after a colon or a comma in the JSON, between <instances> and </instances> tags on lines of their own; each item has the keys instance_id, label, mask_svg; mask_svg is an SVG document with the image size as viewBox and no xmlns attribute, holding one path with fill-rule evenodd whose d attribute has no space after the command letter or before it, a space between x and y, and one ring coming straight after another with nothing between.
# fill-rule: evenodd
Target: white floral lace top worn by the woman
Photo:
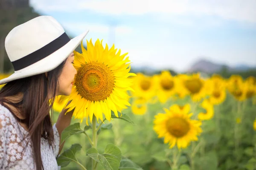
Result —
<instances>
[{"instance_id":1,"label":"white floral lace top worn by the woman","mask_svg":"<svg viewBox=\"0 0 256 170\"><path fill-rule=\"evenodd\" d=\"M41 157L44 170L58 170L56 157L59 150L59 134L53 125L54 144L53 150L46 139L41 138ZM31 142L26 150L25 139L28 132L16 121L12 113L0 105L0 170L35 170ZM22 141L22 142L21 142Z\"/></svg>"}]
</instances>

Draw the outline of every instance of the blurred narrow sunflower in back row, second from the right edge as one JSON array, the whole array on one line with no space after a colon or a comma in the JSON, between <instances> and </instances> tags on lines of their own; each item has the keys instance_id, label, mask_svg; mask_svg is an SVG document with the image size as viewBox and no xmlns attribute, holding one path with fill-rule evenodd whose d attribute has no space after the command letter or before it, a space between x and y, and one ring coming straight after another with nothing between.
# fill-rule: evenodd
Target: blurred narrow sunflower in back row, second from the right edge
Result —
<instances>
[{"instance_id":1,"label":"blurred narrow sunflower in back row, second from the right edge","mask_svg":"<svg viewBox=\"0 0 256 170\"><path fill-rule=\"evenodd\" d=\"M237 100L243 101L246 99L244 91L244 82L241 76L232 75L227 80L227 89Z\"/></svg>"}]
</instances>

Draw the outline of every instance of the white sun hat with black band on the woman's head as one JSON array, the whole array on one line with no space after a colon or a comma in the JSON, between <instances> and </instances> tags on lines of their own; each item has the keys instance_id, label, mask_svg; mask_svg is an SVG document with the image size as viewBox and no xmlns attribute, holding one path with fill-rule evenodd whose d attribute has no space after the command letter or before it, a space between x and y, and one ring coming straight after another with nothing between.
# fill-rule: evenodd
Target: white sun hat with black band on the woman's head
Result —
<instances>
[{"instance_id":1,"label":"white sun hat with black band on the woman's head","mask_svg":"<svg viewBox=\"0 0 256 170\"><path fill-rule=\"evenodd\" d=\"M1 79L0 85L58 67L88 32L70 40L61 24L51 16L36 17L16 26L5 39L6 53L15 72Z\"/></svg>"}]
</instances>

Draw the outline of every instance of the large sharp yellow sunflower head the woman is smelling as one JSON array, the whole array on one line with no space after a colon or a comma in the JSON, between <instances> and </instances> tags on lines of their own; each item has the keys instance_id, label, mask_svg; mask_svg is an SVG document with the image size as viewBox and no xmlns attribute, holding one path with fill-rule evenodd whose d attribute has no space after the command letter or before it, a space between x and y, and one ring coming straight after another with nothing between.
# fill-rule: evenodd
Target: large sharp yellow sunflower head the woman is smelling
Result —
<instances>
[{"instance_id":1,"label":"large sharp yellow sunflower head the woman is smelling","mask_svg":"<svg viewBox=\"0 0 256 170\"><path fill-rule=\"evenodd\" d=\"M133 91L131 88L132 79L130 76L136 76L129 73L130 60L121 55L114 45L108 49L104 48L102 41L96 40L93 45L92 40L87 41L87 50L81 42L82 54L74 51L74 67L77 70L74 85L70 96L64 96L63 99L71 101L67 105L68 111L75 108L73 115L75 118L82 118L92 122L93 115L103 121L103 114L107 120L111 120L111 111L118 117L118 111L130 106L127 91ZM88 122L87 122L88 124Z\"/></svg>"}]
</instances>

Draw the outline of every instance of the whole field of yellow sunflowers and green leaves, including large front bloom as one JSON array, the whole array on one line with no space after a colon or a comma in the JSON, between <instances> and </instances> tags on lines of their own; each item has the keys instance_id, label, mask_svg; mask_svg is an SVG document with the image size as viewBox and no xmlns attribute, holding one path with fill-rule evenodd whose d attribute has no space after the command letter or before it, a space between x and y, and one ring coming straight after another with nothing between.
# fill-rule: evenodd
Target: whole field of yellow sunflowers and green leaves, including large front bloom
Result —
<instances>
[{"instance_id":1,"label":"whole field of yellow sunflowers and green leaves, including large front bloom","mask_svg":"<svg viewBox=\"0 0 256 170\"><path fill-rule=\"evenodd\" d=\"M256 170L256 78L131 73L114 45L75 52L63 170ZM71 101L71 102L70 102Z\"/></svg>"}]
</instances>

